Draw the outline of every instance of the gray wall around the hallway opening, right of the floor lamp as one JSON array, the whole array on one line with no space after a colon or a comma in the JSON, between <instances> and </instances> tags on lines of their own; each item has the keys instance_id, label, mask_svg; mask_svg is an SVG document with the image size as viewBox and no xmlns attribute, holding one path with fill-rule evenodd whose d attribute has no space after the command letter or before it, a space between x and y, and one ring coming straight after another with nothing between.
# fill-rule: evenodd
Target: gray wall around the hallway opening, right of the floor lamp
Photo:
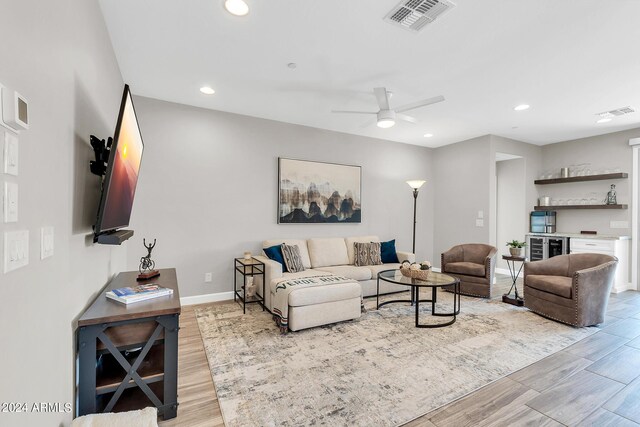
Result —
<instances>
[{"instance_id":1,"label":"gray wall around the hallway opening, right of the floor lamp","mask_svg":"<svg viewBox=\"0 0 640 427\"><path fill-rule=\"evenodd\" d=\"M507 252L504 243L497 240L497 152L522 157L522 197L513 201L512 214L519 224L526 224L520 234L526 232L529 211L537 199L533 181L540 169L541 147L495 135L439 147L434 150L433 163L437 200L433 252L438 265L439 254L459 243L495 245L499 257ZM482 227L476 226L480 210Z\"/></svg>"}]
</instances>

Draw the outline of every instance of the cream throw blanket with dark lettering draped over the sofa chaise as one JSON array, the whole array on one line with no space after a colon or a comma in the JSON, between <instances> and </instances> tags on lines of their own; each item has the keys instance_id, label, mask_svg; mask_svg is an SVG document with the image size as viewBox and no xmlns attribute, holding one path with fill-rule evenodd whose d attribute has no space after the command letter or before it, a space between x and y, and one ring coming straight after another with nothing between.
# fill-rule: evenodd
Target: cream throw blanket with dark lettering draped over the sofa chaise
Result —
<instances>
[{"instance_id":1,"label":"cream throw blanket with dark lettering draped over the sofa chaise","mask_svg":"<svg viewBox=\"0 0 640 427\"><path fill-rule=\"evenodd\" d=\"M343 276L310 276L299 279L279 279L272 285L273 320L280 327L280 332L286 333L289 328L289 295L300 289L314 288L316 286L335 285L338 283L355 282L353 279Z\"/></svg>"}]
</instances>

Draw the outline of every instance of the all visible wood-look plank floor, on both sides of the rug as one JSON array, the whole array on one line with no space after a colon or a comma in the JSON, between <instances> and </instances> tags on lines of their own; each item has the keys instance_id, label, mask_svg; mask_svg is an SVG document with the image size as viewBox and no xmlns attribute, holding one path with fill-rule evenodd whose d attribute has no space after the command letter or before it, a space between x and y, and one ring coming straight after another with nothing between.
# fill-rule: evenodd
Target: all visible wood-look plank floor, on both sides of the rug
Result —
<instances>
[{"instance_id":1,"label":"all visible wood-look plank floor, on both sides of the rug","mask_svg":"<svg viewBox=\"0 0 640 427\"><path fill-rule=\"evenodd\" d=\"M178 417L161 427L224 425L195 307L180 316ZM596 334L406 424L510 425L640 426L640 292L612 295Z\"/></svg>"}]
</instances>

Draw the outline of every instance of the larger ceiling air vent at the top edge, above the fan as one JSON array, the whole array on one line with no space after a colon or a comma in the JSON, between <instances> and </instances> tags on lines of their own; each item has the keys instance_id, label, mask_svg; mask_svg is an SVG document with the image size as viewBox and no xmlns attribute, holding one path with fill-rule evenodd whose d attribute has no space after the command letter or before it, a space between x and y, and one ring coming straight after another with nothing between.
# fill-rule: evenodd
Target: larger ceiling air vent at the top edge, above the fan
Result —
<instances>
[{"instance_id":1,"label":"larger ceiling air vent at the top edge, above the fan","mask_svg":"<svg viewBox=\"0 0 640 427\"><path fill-rule=\"evenodd\" d=\"M449 0L403 0L384 20L406 30L420 31L454 6Z\"/></svg>"}]
</instances>

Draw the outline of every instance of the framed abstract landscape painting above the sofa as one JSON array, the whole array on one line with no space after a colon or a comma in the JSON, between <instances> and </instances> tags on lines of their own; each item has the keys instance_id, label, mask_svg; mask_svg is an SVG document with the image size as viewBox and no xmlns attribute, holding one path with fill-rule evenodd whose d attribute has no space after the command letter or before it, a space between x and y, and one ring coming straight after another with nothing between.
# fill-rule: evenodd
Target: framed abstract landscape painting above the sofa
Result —
<instances>
[{"instance_id":1,"label":"framed abstract landscape painting above the sofa","mask_svg":"<svg viewBox=\"0 0 640 427\"><path fill-rule=\"evenodd\" d=\"M359 223L360 166L278 158L278 223Z\"/></svg>"}]
</instances>

